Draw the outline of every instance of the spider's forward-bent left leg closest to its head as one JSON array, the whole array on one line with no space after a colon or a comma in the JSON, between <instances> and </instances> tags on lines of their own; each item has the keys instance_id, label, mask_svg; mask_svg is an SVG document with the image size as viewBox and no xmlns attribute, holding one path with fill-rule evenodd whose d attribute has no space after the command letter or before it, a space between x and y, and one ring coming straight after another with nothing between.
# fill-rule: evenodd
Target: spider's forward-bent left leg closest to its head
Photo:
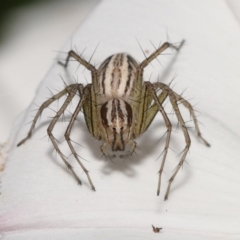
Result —
<instances>
[{"instance_id":1,"label":"spider's forward-bent left leg closest to its head","mask_svg":"<svg viewBox=\"0 0 240 240\"><path fill-rule=\"evenodd\" d=\"M87 175L88 182L90 183L92 190L95 191L95 187L94 187L94 185L93 185L93 183L92 183L92 180L91 180L91 178L90 178L89 172L88 172L88 170L84 167L84 165L82 164L82 162L80 161L80 159L79 159L79 157L78 157L78 154L76 153L76 151L75 151L75 149L74 149L74 147L73 147L73 145L72 145L72 143L71 143L71 139L70 139L70 134L71 134L71 130L72 130L72 127L73 127L73 125L74 125L74 122L75 122L75 120L76 120L79 112L80 112L81 109L82 109L83 103L84 103L87 95L90 94L90 90L89 90L88 88L89 88L88 86L86 86L86 87L84 88L84 91L83 91L81 100L80 100L80 102L78 103L77 108L76 108L76 110L74 111L74 113L73 113L73 115L72 115L72 117L71 117L71 120L70 120L70 122L69 122L69 124L68 124L67 130L66 130L64 136L65 136L65 139L66 139L66 141L67 141L67 143L68 143L68 145L69 145L69 148L71 149L72 154L74 155L75 159L77 160L77 162L79 163L79 165L80 165L81 168L83 169L84 173ZM79 91L80 91L80 89L79 89Z\"/></svg>"}]
</instances>

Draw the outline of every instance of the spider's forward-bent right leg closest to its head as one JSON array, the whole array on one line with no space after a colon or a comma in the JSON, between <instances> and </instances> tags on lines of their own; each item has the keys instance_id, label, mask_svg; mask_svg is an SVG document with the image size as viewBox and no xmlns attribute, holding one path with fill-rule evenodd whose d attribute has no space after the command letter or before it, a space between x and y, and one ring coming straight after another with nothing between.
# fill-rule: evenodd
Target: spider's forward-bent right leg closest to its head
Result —
<instances>
[{"instance_id":1,"label":"spider's forward-bent right leg closest to its head","mask_svg":"<svg viewBox=\"0 0 240 240\"><path fill-rule=\"evenodd\" d=\"M164 151L163 160L162 160L162 163L161 163L160 170L158 172L159 177L158 177L158 186L157 186L157 196L159 196L159 194L160 194L160 187L161 187L162 172L163 172L164 164L165 164L165 161L166 161L168 148L169 148L169 143L170 143L170 138L171 138L172 124L171 124L171 122L170 122L170 120L169 120L169 118L168 118L164 108L162 107L162 103L159 101L159 98L158 98L158 96L157 96L157 94L155 92L153 84L150 83L150 82L145 82L145 84L151 89L153 98L155 100L155 103L157 104L157 106L159 108L159 111L161 112L161 114L163 116L165 125L167 127L167 137L166 137L165 147L164 147L164 150L163 150Z\"/></svg>"}]
</instances>

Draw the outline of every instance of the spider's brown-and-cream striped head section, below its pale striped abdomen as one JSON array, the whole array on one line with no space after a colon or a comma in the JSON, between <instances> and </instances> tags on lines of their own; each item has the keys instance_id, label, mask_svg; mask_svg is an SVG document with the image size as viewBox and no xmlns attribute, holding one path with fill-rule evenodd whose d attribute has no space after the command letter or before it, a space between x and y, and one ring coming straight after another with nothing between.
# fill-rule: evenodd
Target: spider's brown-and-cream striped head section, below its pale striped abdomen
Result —
<instances>
[{"instance_id":1,"label":"spider's brown-and-cream striped head section, below its pale striped abdomen","mask_svg":"<svg viewBox=\"0 0 240 240\"><path fill-rule=\"evenodd\" d=\"M101 108L105 143L102 152L107 157L128 156L135 148L132 140L132 108L122 99L111 99Z\"/></svg>"}]
</instances>

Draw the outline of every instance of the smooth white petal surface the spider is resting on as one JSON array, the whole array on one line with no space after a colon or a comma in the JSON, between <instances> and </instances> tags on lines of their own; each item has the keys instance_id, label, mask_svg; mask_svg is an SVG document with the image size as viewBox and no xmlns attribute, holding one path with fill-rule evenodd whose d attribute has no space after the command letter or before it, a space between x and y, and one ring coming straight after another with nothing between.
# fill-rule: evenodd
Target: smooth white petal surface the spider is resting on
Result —
<instances>
[{"instance_id":1,"label":"smooth white petal surface the spider is resting on","mask_svg":"<svg viewBox=\"0 0 240 240\"><path fill-rule=\"evenodd\" d=\"M161 81L167 83L178 73L174 90L181 93L187 87L184 96L194 98L193 104L199 102L196 108L204 123L201 129L212 147L206 148L191 131L187 164L177 175L169 200L163 201L167 180L179 160L176 153L184 147L180 129L173 134L171 148L176 153L168 156L161 196L156 197L160 160L155 159L164 141L156 142L165 130L161 117L138 140L137 155L131 161L116 163L99 161L100 143L93 140L80 119L73 139L85 147L77 147L77 151L87 159L84 165L97 188L92 192L74 159L69 161L83 181L81 187L52 153L47 138L42 139L53 111L43 114L42 124L38 124L31 140L15 147L28 131L25 123L34 115L31 110L36 109L32 105L12 131L9 144L13 143L13 147L2 176L0 230L6 239L31 239L30 234L37 234L39 239L53 239L52 234L54 239L63 239L64 234L71 239L239 239L240 31L224 1L210 1L207 6L203 1L185 1L184 6L177 0L151 0L148 4L137 0L126 4L104 1L63 49L68 51L76 45L82 52L87 46L84 56L89 59L100 42L92 63L99 64L121 51L141 61L144 57L135 37L150 52L154 48L148 40L158 45L167 40L167 32L172 42L186 39L187 44L167 74L165 69L173 55L159 57L163 67L155 61L148 67L145 79L153 73L151 81L155 81L160 74ZM34 102L39 105L50 96L47 88L53 92L63 88L59 74L68 84L73 77L85 83L86 76L90 81L86 70L76 69L77 65L72 64L65 72L55 64ZM57 109L57 105L53 108ZM188 121L189 115L184 116ZM55 135L60 140L66 126L60 122L56 127ZM61 148L68 156L65 143ZM163 227L160 236L152 232L151 224Z\"/></svg>"}]
</instances>

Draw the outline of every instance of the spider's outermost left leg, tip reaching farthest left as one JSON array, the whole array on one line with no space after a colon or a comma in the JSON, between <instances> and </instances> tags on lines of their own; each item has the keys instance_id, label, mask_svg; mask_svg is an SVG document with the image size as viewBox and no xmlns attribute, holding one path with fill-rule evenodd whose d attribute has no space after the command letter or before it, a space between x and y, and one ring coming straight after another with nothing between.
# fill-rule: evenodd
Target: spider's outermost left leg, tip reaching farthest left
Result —
<instances>
[{"instance_id":1,"label":"spider's outermost left leg, tip reaching farthest left","mask_svg":"<svg viewBox=\"0 0 240 240\"><path fill-rule=\"evenodd\" d=\"M78 84L72 84L72 85L69 85L68 87L66 87L64 90L62 90L61 92L59 92L58 94L55 94L54 96L52 96L50 99L48 99L47 101L45 101L41 106L40 108L38 109L37 111L37 114L35 115L34 119L33 119L33 122L32 122L32 125L30 127L30 130L27 134L27 136L22 139L18 144L17 146L19 147L20 145L22 145L25 141L27 141L31 135L32 135L32 132L33 132L33 129L36 125L36 122L38 120L38 118L41 116L43 110L45 108L47 108L50 104L52 104L54 101L60 99L62 96L66 95L66 94L69 94L72 89L74 89Z\"/></svg>"}]
</instances>

